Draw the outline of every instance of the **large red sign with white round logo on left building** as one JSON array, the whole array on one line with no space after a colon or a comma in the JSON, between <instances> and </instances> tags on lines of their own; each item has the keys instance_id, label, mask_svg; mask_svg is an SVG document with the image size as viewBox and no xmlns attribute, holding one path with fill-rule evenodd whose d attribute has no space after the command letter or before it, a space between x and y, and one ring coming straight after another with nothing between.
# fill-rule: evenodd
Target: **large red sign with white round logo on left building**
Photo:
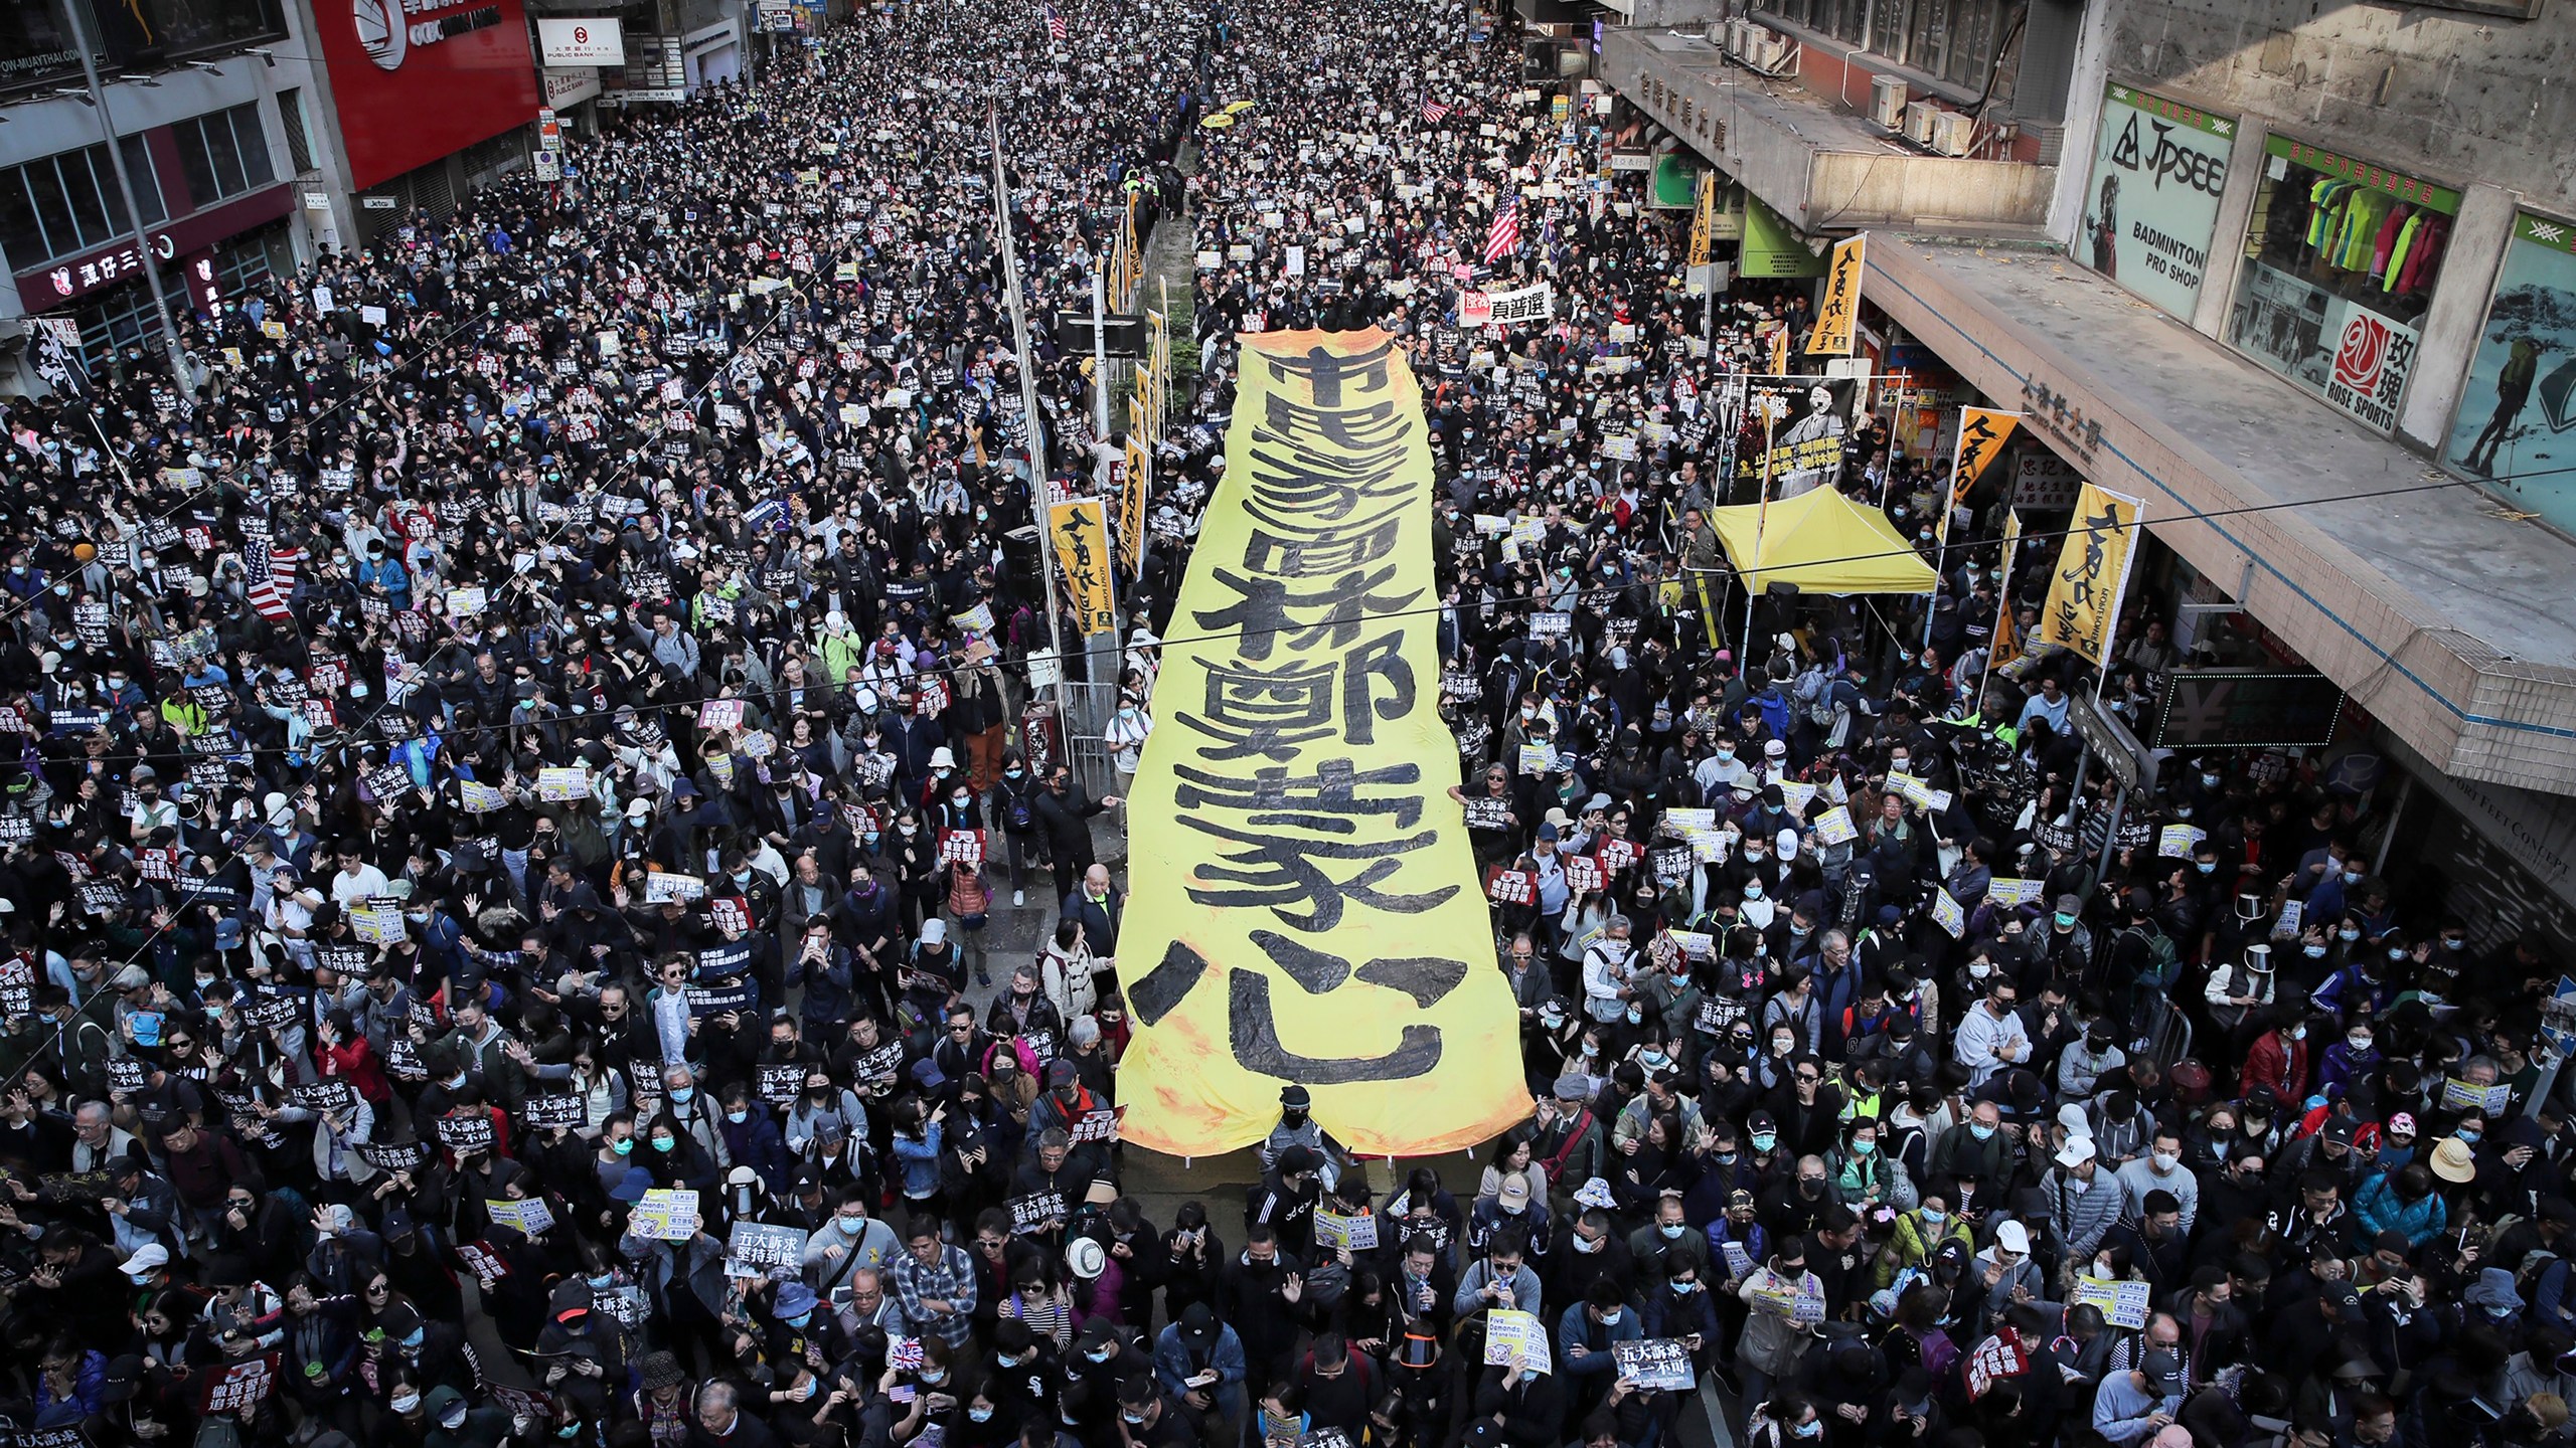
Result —
<instances>
[{"instance_id":1,"label":"large red sign with white round logo on left building","mask_svg":"<svg viewBox=\"0 0 2576 1448\"><path fill-rule=\"evenodd\" d=\"M536 119L544 93L520 0L314 0L366 191Z\"/></svg>"}]
</instances>

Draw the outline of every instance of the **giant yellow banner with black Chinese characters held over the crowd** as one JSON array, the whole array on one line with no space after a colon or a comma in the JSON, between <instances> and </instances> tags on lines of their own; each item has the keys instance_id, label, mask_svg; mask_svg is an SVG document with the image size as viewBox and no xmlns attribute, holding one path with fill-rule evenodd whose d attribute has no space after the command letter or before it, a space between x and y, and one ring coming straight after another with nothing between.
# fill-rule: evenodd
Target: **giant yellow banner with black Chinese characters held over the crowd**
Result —
<instances>
[{"instance_id":1,"label":"giant yellow banner with black Chinese characters held over the crowd","mask_svg":"<svg viewBox=\"0 0 2576 1448\"><path fill-rule=\"evenodd\" d=\"M1247 335L1128 799L1123 1139L1206 1157L1280 1087L1363 1154L1530 1110L1440 721L1422 389L1381 330Z\"/></svg>"}]
</instances>

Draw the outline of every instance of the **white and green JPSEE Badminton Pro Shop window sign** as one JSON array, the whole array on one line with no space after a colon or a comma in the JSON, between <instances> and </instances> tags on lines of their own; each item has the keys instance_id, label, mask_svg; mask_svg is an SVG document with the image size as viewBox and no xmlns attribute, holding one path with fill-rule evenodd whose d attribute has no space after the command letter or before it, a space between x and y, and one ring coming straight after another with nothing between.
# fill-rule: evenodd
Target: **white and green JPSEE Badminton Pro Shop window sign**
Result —
<instances>
[{"instance_id":1,"label":"white and green JPSEE Badminton Pro Shop window sign","mask_svg":"<svg viewBox=\"0 0 2576 1448\"><path fill-rule=\"evenodd\" d=\"M2112 82L2076 260L2190 322L2233 144L2233 116Z\"/></svg>"}]
</instances>

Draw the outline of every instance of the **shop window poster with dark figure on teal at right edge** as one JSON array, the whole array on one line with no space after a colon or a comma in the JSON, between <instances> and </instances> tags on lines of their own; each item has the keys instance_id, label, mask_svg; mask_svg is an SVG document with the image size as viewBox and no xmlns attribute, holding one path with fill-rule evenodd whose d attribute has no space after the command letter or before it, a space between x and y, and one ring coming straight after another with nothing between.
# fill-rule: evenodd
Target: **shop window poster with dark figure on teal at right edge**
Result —
<instances>
[{"instance_id":1,"label":"shop window poster with dark figure on teal at right edge","mask_svg":"<svg viewBox=\"0 0 2576 1448\"><path fill-rule=\"evenodd\" d=\"M2442 461L2576 533L2576 222L2514 216Z\"/></svg>"}]
</instances>

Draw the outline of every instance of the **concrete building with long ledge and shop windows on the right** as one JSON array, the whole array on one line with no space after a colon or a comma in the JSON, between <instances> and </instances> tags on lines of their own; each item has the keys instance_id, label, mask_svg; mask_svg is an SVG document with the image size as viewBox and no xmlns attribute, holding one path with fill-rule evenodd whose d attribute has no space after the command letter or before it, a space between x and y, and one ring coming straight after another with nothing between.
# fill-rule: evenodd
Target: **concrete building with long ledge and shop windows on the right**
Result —
<instances>
[{"instance_id":1,"label":"concrete building with long ledge and shop windows on the right","mask_svg":"<svg viewBox=\"0 0 2576 1448\"><path fill-rule=\"evenodd\" d=\"M1808 252L1870 232L1919 456L1986 402L2032 526L2079 479L2141 497L2151 613L2321 672L2342 778L2576 938L2576 8L1654 5L1600 80ZM2161 724L2228 747L2208 719Z\"/></svg>"}]
</instances>

